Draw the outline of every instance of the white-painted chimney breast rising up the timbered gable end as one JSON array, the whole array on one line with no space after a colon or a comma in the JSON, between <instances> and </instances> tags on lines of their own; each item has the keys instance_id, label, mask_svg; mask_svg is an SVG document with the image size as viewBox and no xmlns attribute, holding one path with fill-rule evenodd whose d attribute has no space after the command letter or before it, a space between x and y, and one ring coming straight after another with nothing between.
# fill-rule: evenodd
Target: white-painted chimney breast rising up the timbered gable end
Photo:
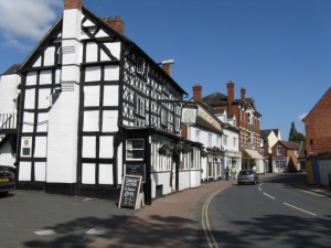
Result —
<instances>
[{"instance_id":1,"label":"white-painted chimney breast rising up the timbered gable end","mask_svg":"<svg viewBox=\"0 0 331 248\"><path fill-rule=\"evenodd\" d=\"M79 10L64 10L62 47L74 53L63 54L61 82L73 83L74 90L62 91L49 114L47 182L76 182L81 21Z\"/></svg>"}]
</instances>

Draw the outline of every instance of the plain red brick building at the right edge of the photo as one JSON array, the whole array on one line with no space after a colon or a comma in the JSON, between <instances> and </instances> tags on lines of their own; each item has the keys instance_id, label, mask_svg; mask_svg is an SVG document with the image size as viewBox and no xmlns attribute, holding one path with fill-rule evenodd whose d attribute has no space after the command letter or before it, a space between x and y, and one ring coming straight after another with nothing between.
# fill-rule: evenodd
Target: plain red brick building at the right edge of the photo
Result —
<instances>
[{"instance_id":1,"label":"plain red brick building at the right edge of the photo","mask_svg":"<svg viewBox=\"0 0 331 248\"><path fill-rule=\"evenodd\" d=\"M331 87L302 119L307 157L331 152Z\"/></svg>"}]
</instances>

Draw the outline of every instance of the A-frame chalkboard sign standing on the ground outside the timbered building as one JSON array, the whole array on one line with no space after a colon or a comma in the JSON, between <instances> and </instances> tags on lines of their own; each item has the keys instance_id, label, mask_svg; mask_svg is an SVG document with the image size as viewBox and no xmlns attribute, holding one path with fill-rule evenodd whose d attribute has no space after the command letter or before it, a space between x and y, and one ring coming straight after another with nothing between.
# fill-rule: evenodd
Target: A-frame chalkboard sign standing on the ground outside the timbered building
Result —
<instances>
[{"instance_id":1,"label":"A-frame chalkboard sign standing on the ground outside the timbered building","mask_svg":"<svg viewBox=\"0 0 331 248\"><path fill-rule=\"evenodd\" d=\"M141 176L125 175L121 184L118 207L139 208L137 201L140 198ZM138 203L138 204L137 204Z\"/></svg>"}]
</instances>

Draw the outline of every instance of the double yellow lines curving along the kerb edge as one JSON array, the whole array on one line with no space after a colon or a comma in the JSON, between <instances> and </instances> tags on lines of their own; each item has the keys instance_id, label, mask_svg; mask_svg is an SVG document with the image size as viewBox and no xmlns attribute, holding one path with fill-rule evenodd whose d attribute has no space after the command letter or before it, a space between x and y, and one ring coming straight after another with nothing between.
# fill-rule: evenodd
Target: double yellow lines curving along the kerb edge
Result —
<instances>
[{"instance_id":1,"label":"double yellow lines curving along the kerb edge","mask_svg":"<svg viewBox=\"0 0 331 248\"><path fill-rule=\"evenodd\" d=\"M231 186L227 186L227 187L231 187ZM213 197L216 194L218 194L221 191L224 191L227 187L224 187L224 188L221 188L221 190L214 192L212 195L210 195L210 197L203 204L202 215L201 215L201 217L202 217L202 227L203 227L205 237L207 239L209 247L211 247L211 248L218 248L218 245L217 245L217 242L216 242L216 240L213 236L213 233L211 230L210 220L209 220L209 205L210 205L211 201L213 200Z\"/></svg>"}]
</instances>

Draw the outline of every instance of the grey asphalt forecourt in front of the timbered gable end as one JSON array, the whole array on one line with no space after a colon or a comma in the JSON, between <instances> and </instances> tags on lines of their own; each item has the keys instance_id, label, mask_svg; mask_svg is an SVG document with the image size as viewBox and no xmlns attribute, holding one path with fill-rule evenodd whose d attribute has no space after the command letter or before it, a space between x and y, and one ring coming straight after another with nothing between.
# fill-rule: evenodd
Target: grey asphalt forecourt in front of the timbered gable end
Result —
<instances>
[{"instance_id":1,"label":"grey asphalt forecourt in front of the timbered gable end","mask_svg":"<svg viewBox=\"0 0 331 248\"><path fill-rule=\"evenodd\" d=\"M18 190L0 197L0 247L86 247L135 212L113 201Z\"/></svg>"}]
</instances>

